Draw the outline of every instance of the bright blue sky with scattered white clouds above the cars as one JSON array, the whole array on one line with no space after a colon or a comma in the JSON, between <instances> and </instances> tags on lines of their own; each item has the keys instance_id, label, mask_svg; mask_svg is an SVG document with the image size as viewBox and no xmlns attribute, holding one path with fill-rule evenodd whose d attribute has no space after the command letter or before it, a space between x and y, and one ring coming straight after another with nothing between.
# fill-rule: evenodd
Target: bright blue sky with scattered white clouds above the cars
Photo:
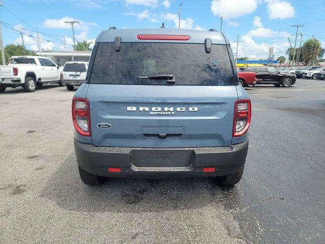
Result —
<instances>
[{"instance_id":1,"label":"bright blue sky with scattered white clouds above the cars","mask_svg":"<svg viewBox=\"0 0 325 244\"><path fill-rule=\"evenodd\" d=\"M220 28L232 41L239 56L268 57L268 48L275 47L275 56L285 55L295 42L295 24L304 24L299 32L302 41L314 35L325 46L325 1L313 0L3 0L0 7L4 44L20 44L23 33L25 46L37 50L37 32L41 49L71 50L71 26L64 21L78 20L76 39L93 42L102 29L155 28L164 21L167 28L178 26L181 7L181 28ZM17 32L18 31L18 32ZM20 33L19 33L20 32ZM64 38L65 37L65 38ZM300 43L300 37L298 39Z\"/></svg>"}]
</instances>

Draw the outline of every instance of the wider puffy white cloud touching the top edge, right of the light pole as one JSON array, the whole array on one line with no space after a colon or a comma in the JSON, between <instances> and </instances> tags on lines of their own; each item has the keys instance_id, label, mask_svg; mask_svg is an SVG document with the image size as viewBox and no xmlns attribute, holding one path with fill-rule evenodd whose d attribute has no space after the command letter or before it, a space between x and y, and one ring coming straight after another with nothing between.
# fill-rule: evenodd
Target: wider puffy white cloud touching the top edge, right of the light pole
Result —
<instances>
[{"instance_id":1,"label":"wider puffy white cloud touching the top edge, right of the light pole","mask_svg":"<svg viewBox=\"0 0 325 244\"><path fill-rule=\"evenodd\" d=\"M234 19L245 14L250 14L257 8L258 0L213 0L211 11L213 15L223 17L223 19Z\"/></svg>"}]
</instances>

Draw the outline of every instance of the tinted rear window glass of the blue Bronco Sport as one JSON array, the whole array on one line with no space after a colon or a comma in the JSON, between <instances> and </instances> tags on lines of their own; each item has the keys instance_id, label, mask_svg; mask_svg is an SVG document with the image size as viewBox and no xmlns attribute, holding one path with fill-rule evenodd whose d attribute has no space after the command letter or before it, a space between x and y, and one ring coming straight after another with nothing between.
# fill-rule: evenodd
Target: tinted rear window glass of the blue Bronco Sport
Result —
<instances>
[{"instance_id":1,"label":"tinted rear window glass of the blue Bronco Sport","mask_svg":"<svg viewBox=\"0 0 325 244\"><path fill-rule=\"evenodd\" d=\"M225 45L100 43L92 68L90 83L166 84L166 80L138 78L151 75L174 75L175 85L230 85L233 70Z\"/></svg>"}]
</instances>

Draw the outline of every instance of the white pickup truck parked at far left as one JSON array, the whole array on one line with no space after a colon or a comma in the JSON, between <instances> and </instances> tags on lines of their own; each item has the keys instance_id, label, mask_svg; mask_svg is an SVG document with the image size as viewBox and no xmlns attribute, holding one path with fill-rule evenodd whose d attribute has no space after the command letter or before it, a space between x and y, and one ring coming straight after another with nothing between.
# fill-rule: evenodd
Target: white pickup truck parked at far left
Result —
<instances>
[{"instance_id":1,"label":"white pickup truck parked at far left","mask_svg":"<svg viewBox=\"0 0 325 244\"><path fill-rule=\"evenodd\" d=\"M12 56L8 65L0 66L0 92L5 92L6 87L17 86L34 92L43 84L60 84L62 69L47 57Z\"/></svg>"}]
</instances>

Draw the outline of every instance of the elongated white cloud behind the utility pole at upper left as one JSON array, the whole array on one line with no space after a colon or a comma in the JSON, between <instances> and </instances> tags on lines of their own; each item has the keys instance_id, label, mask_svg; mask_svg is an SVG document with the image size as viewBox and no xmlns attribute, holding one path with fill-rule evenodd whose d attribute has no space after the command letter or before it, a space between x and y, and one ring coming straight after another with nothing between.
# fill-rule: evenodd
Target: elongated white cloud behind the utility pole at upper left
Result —
<instances>
[{"instance_id":1,"label":"elongated white cloud behind the utility pole at upper left","mask_svg":"<svg viewBox=\"0 0 325 244\"><path fill-rule=\"evenodd\" d=\"M94 22L85 22L79 19L74 19L71 17L63 17L61 19L46 19L44 21L44 26L48 28L56 28L56 29L71 29L71 24L64 23L65 21L79 21L79 23L74 24L74 29L88 32L90 26L96 26L97 24Z\"/></svg>"}]
</instances>

